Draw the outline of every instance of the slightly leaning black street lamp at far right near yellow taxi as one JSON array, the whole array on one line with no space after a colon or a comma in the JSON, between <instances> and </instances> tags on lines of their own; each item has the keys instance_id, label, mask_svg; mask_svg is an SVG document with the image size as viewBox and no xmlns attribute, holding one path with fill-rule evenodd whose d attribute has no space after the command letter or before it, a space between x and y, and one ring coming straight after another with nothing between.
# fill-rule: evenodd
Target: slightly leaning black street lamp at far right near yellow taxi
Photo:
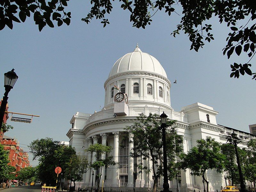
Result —
<instances>
[{"instance_id":1,"label":"slightly leaning black street lamp at far right near yellow taxi","mask_svg":"<svg viewBox=\"0 0 256 192\"><path fill-rule=\"evenodd\" d=\"M243 173L242 173L242 170L241 170L240 159L239 159L238 151L237 151L237 144L239 143L240 139L237 137L237 134L234 131L233 131L233 133L231 133L231 137L232 137L232 140L230 142L234 143L235 151L236 151L236 162L237 162L237 167L238 167L238 172L239 172L239 180L240 180L241 191L245 192L246 188L245 188L245 184L244 184L244 177L243 177Z\"/></svg>"}]
</instances>

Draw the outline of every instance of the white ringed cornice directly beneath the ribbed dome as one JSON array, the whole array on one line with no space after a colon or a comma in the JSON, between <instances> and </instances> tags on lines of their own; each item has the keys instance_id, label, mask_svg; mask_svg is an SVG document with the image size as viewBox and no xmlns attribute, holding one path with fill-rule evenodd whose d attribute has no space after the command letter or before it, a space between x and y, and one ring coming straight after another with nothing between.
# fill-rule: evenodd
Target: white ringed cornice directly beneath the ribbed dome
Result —
<instances>
[{"instance_id":1,"label":"white ringed cornice directly beneath the ribbed dome","mask_svg":"<svg viewBox=\"0 0 256 192\"><path fill-rule=\"evenodd\" d=\"M117 77L120 77L120 76L125 76L125 75L133 75L133 74L136 74L137 76L136 77L140 77L140 76L152 76L152 77L157 77L157 78L160 78L160 79L163 79L168 85L169 87L171 88L171 82L169 81L169 79L167 79L166 77L162 76L162 75L159 75L157 73L154 73L154 72L148 72L148 71L125 71L125 72L122 72L122 73L118 73L114 76L111 76L109 77L105 83L104 83L104 89L106 89L106 85L108 84L109 81L117 78Z\"/></svg>"}]
</instances>

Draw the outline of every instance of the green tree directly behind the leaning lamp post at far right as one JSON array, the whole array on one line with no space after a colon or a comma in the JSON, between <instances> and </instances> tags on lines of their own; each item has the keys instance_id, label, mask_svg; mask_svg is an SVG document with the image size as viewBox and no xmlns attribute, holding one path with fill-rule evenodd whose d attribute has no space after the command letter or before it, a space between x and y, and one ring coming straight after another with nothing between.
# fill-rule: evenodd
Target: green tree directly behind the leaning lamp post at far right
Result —
<instances>
[{"instance_id":1,"label":"green tree directly behind the leaning lamp post at far right","mask_svg":"<svg viewBox=\"0 0 256 192\"><path fill-rule=\"evenodd\" d=\"M228 174L227 178L231 179L232 186L234 186L234 184L239 184L240 179L239 179L238 167L236 163L236 151L235 151L234 145L222 144L220 146L220 149L221 149L221 153L226 156L224 171ZM247 153L245 150L240 148L237 148L237 151L240 158L242 172L244 175L245 173L244 167L246 164Z\"/></svg>"}]
</instances>

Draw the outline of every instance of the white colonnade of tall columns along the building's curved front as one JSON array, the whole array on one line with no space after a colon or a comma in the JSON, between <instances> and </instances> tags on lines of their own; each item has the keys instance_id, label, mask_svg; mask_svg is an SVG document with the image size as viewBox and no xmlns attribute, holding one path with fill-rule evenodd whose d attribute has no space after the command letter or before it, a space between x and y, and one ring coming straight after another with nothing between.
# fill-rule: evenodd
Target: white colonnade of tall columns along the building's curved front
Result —
<instances>
[{"instance_id":1,"label":"white colonnade of tall columns along the building's curved front","mask_svg":"<svg viewBox=\"0 0 256 192\"><path fill-rule=\"evenodd\" d=\"M111 133L110 133L111 134ZM111 144L111 146L113 147L112 150L112 154L113 154L113 161L118 162L118 157L119 157L119 139L120 139L120 132L112 132L112 134L110 135L109 133L100 133L100 135L93 135L92 137L89 137L87 139L85 139L84 141L84 147L85 149L88 149L88 147L90 147L90 145L92 144L96 144L99 143L98 141L100 140L101 137L101 144L102 145L107 145L107 139L109 139L109 137L111 137L112 139L114 139L113 145ZM136 170L134 171L134 160L133 157L130 156L130 152L132 152L132 148L133 148L133 142L130 142L133 138L132 133L129 133L129 146L128 146L128 183L127 183L127 187L133 187L134 183L133 183L133 174L134 172L136 172ZM191 148L190 145L190 140L185 139L184 140L184 151L187 152L189 150L189 148ZM85 152L85 156L87 156L88 158L88 162L90 163L94 163L96 158L95 158L95 152L91 153L91 152ZM102 153L101 155L102 159L106 158L106 154ZM137 163L139 163L139 159L137 159ZM143 162L146 166L152 167L152 162L148 161L148 159L145 159ZM102 183L102 180L104 180L105 184L107 185L111 185L111 186L119 186L119 169L118 169L118 164L111 166L110 168L107 168L108 170L108 176L107 179L105 181L105 167L102 169L102 176L100 178L100 183ZM83 182L85 182L86 184L91 184L92 183L92 171L94 171L94 181L93 183L95 183L95 175L96 175L96 171L91 169L88 170L84 176L83 176ZM100 170L101 171L101 170ZM141 172L141 173L137 173L137 179L135 181L135 185L136 187L148 187L153 185L153 180L152 180L152 173L153 171L151 170L151 172L149 172L148 174ZM187 172L182 172L181 173L181 180L186 184L186 183L194 183L194 180L191 178L190 176L190 171L187 170ZM162 178L160 178L160 183Z\"/></svg>"}]
</instances>

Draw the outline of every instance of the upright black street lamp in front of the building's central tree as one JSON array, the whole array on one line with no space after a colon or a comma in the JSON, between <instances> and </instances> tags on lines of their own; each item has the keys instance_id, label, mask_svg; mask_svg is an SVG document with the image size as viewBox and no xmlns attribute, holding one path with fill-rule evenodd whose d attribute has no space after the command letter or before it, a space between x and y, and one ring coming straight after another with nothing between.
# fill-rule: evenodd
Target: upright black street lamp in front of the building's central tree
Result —
<instances>
[{"instance_id":1,"label":"upright black street lamp in front of the building's central tree","mask_svg":"<svg viewBox=\"0 0 256 192\"><path fill-rule=\"evenodd\" d=\"M163 136L162 136L162 140L163 140L163 161L164 161L164 184L163 184L163 188L164 190L161 192L169 192L169 183L168 183L168 173L167 173L167 155L166 155L166 139L165 139L165 129L166 129L166 121L167 121L167 115L163 113L160 115L160 119L161 119L161 128L163 129Z\"/></svg>"}]
</instances>

